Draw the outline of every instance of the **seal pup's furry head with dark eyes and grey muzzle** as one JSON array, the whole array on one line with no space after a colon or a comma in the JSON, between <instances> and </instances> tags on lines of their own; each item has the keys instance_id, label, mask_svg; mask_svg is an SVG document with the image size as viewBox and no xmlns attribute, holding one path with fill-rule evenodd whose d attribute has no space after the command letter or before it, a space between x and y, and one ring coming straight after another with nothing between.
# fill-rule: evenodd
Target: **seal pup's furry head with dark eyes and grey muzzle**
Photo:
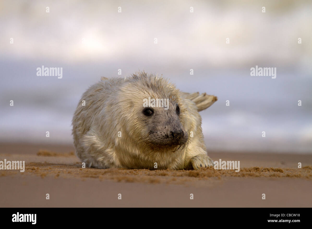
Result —
<instances>
[{"instance_id":1,"label":"seal pup's furry head with dark eyes and grey muzzle","mask_svg":"<svg viewBox=\"0 0 312 229\"><path fill-rule=\"evenodd\" d=\"M123 120L116 120L116 125L126 124L120 126L126 137L118 141L153 151L175 151L188 144L188 129L184 125L188 109L173 84L140 72L126 79L119 89L118 103L122 106L117 106L119 111L115 112L120 112Z\"/></svg>"}]
</instances>

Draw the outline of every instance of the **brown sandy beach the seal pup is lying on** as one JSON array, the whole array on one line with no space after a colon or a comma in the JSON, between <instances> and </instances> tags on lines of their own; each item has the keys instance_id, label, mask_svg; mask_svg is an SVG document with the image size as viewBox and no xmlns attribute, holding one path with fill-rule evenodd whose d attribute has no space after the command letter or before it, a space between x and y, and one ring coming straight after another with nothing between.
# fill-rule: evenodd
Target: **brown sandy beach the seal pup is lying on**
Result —
<instances>
[{"instance_id":1,"label":"brown sandy beach the seal pup is lying on","mask_svg":"<svg viewBox=\"0 0 312 229\"><path fill-rule=\"evenodd\" d=\"M239 172L213 168L83 169L71 145L2 143L0 146L0 160L25 161L25 172L0 170L2 207L311 207L312 204L311 155L209 151L213 160L239 160ZM298 162L302 163L301 169Z\"/></svg>"}]
</instances>

